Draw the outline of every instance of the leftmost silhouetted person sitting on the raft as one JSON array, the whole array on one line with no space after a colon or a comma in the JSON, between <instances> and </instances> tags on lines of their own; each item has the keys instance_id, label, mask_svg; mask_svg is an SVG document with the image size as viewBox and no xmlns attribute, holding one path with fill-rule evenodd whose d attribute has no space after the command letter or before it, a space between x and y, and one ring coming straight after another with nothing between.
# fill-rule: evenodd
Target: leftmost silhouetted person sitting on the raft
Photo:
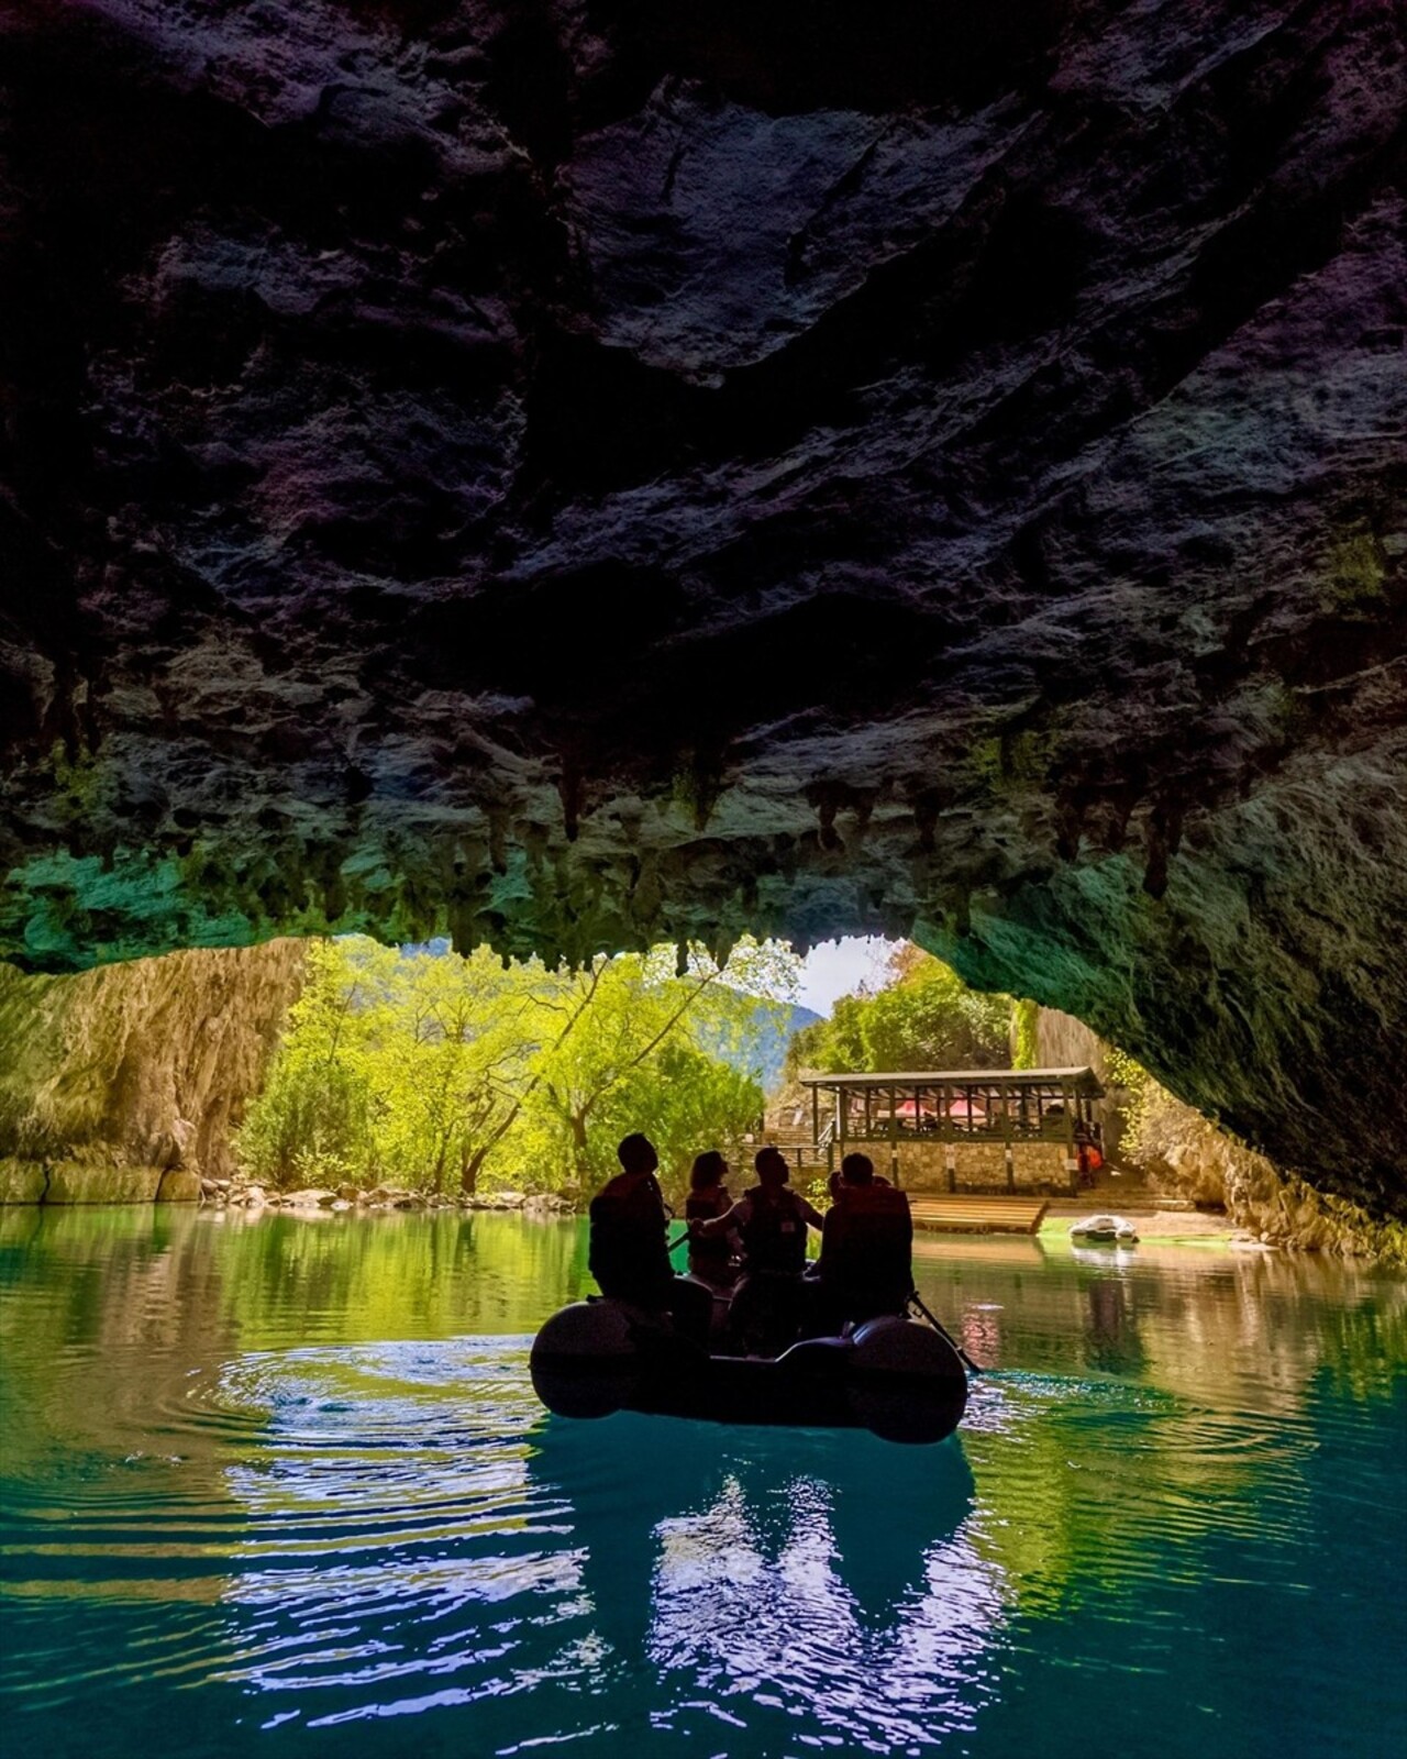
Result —
<instances>
[{"instance_id":1,"label":"leftmost silhouetted person sitting on the raft","mask_svg":"<svg viewBox=\"0 0 1407 1759\"><path fill-rule=\"evenodd\" d=\"M601 1295L652 1312L668 1312L682 1337L707 1347L712 1300L709 1291L675 1277L665 1230L668 1215L654 1177L660 1156L642 1135L616 1150L621 1171L591 1200L587 1266Z\"/></svg>"}]
</instances>

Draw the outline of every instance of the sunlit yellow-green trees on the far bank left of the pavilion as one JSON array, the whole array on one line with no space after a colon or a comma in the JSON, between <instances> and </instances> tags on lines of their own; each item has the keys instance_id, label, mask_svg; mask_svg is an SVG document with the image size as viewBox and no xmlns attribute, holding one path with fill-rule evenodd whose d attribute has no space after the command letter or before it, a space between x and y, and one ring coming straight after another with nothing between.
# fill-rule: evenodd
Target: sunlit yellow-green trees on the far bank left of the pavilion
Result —
<instances>
[{"instance_id":1,"label":"sunlit yellow-green trees on the far bank left of the pavilion","mask_svg":"<svg viewBox=\"0 0 1407 1759\"><path fill-rule=\"evenodd\" d=\"M598 957L579 971L503 966L487 950L397 952L348 938L310 953L308 985L239 1136L273 1184L394 1182L582 1191L647 1131L667 1179L730 1150L762 1112L760 1020L795 957L740 943L726 967L689 948ZM763 1011L760 1013L760 1004Z\"/></svg>"}]
</instances>

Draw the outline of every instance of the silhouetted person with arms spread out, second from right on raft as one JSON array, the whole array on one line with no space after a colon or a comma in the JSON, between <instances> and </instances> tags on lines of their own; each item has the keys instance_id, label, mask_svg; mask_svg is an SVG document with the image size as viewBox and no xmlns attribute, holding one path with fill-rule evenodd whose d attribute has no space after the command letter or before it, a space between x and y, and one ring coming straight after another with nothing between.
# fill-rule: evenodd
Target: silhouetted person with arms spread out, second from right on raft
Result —
<instances>
[{"instance_id":1,"label":"silhouetted person with arms spread out, second from right on raft","mask_svg":"<svg viewBox=\"0 0 1407 1759\"><path fill-rule=\"evenodd\" d=\"M791 1170L781 1149L756 1156L758 1184L726 1214L695 1223L691 1233L718 1238L737 1231L742 1240L742 1281L733 1296L732 1330L749 1354L784 1349L800 1325L806 1230L821 1215L788 1189Z\"/></svg>"}]
</instances>

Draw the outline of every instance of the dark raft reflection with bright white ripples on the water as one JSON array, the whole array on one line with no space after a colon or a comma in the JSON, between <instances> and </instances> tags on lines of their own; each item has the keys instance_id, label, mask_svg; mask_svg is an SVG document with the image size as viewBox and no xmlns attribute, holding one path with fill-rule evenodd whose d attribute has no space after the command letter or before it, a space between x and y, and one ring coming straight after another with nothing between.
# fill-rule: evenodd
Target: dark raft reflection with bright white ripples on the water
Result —
<instances>
[{"instance_id":1,"label":"dark raft reflection with bright white ripples on the water","mask_svg":"<svg viewBox=\"0 0 1407 1759\"><path fill-rule=\"evenodd\" d=\"M804 1710L813 1738L865 1747L971 1726L1004 1613L957 1442L623 1414L549 1420L529 1472L584 1543L601 1668L623 1687L665 1671L656 1726L756 1734Z\"/></svg>"}]
</instances>

